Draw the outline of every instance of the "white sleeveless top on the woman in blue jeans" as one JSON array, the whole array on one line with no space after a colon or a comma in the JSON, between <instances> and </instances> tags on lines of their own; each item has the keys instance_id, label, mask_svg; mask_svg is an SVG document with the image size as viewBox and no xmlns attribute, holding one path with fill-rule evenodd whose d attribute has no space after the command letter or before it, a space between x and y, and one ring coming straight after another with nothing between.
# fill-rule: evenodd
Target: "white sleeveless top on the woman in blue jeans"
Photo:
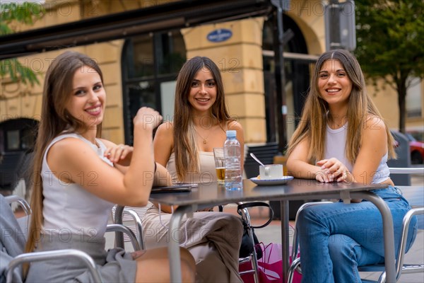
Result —
<instances>
[{"instance_id":1,"label":"white sleeveless top on the woman in blue jeans","mask_svg":"<svg viewBox=\"0 0 424 283\"><path fill-rule=\"evenodd\" d=\"M348 168L349 171L352 171L353 164L348 161L345 154L346 135L348 133L347 129L347 123L339 129L331 129L329 125L326 126L326 143L324 158L337 158ZM388 154L386 153L380 161L377 171L372 176L372 184L379 184L389 179L390 171L389 166L387 166L387 156Z\"/></svg>"}]
</instances>

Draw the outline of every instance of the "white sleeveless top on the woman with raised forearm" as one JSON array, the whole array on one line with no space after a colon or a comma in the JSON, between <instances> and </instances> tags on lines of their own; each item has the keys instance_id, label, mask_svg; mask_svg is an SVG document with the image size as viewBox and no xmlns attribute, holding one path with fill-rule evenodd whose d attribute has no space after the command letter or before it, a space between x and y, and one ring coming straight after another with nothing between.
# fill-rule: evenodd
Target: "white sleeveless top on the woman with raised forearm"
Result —
<instances>
[{"instance_id":1,"label":"white sleeveless top on the woman with raised forearm","mask_svg":"<svg viewBox=\"0 0 424 283\"><path fill-rule=\"evenodd\" d=\"M47 164L47 152L50 147L57 141L65 138L76 138L85 141L91 146L99 158L108 163L113 164L103 156L106 146L99 139L96 139L99 148L79 134L61 134L59 137L47 146L45 155L42 160L42 187L43 187L43 216L44 216L44 233L59 233L61 238L66 241L70 236L84 236L85 239L103 238L107 221L109 219L112 202L107 202L97 197L80 185L75 183L61 182L56 175L52 173ZM66 174L66 172L55 172L55 174ZM82 177L82 175L81 175ZM95 168L93 172L85 172L84 178L90 182L92 178L95 182Z\"/></svg>"}]
</instances>

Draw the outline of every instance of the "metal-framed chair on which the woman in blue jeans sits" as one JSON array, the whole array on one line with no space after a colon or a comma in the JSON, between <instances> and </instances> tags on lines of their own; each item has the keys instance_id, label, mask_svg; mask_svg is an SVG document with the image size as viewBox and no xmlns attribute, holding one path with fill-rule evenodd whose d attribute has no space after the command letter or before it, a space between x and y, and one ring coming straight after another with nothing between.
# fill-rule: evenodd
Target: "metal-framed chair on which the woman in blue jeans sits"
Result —
<instances>
[{"instance_id":1,"label":"metal-framed chair on which the woman in blue jeans sits","mask_svg":"<svg viewBox=\"0 0 424 283\"><path fill-rule=\"evenodd\" d=\"M389 168L389 170L391 174L424 175L424 168ZM404 190L416 188L411 186L401 186L401 187ZM418 189L424 190L424 187L418 187ZM305 209L306 207L310 207L312 205L319 205L319 204L329 204L329 203L332 203L332 202L307 202L303 204L298 210L298 213L296 214L296 219L298 219L298 214L302 211L302 209ZM401 239L399 242L399 250L397 250L397 257L396 257L397 258L396 259L396 282L399 280L402 274L424 272L424 264L404 264L406 238L408 237L409 223L411 222L412 217L416 215L424 215L424 207L422 205L420 207L413 207L404 216L404 220L402 222L402 234L401 234ZM295 229L295 232L293 234L293 249L292 249L292 258L295 258L295 260L293 260L288 270L288 283L293 282L293 275L295 271L302 274L302 269L300 268L300 257L297 256L298 248L299 248L298 244L299 243L298 243L297 229ZM358 267L358 270L360 272L382 272L382 274L379 276L379 279L377 281L363 279L362 282L379 282L379 283L386 282L386 272L384 270L384 265L367 265L363 267Z\"/></svg>"}]
</instances>

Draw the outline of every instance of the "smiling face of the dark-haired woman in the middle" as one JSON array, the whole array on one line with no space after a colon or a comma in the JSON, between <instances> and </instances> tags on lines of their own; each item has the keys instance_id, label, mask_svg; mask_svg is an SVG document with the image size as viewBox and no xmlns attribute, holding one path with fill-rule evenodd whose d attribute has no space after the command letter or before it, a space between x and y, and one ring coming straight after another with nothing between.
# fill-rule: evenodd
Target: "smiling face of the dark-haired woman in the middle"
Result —
<instances>
[{"instance_id":1,"label":"smiling face of the dark-haired woman in the middle","mask_svg":"<svg viewBox=\"0 0 424 283\"><path fill-rule=\"evenodd\" d=\"M204 113L210 111L216 101L216 81L211 71L206 68L200 69L192 81L189 93L189 103L192 112Z\"/></svg>"}]
</instances>

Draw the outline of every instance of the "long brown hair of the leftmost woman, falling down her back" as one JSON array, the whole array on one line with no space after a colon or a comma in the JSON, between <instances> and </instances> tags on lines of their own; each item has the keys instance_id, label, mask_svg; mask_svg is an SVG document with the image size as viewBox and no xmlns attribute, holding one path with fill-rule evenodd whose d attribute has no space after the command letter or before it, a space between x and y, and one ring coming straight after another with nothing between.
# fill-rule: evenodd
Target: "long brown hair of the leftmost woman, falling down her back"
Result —
<instances>
[{"instance_id":1,"label":"long brown hair of the leftmost woman, falling down her back","mask_svg":"<svg viewBox=\"0 0 424 283\"><path fill-rule=\"evenodd\" d=\"M42 195L41 168L45 151L50 142L62 132L85 132L86 126L80 120L72 117L65 109L72 96L73 75L83 66L93 68L100 75L103 82L102 71L98 64L85 54L67 51L60 54L52 64L45 76L42 93L42 109L37 141L35 142L33 160L33 192L31 196L31 217L26 252L32 252L40 240L44 217L42 215L44 197ZM98 125L97 137L100 137L102 125ZM25 268L28 269L28 268Z\"/></svg>"}]
</instances>

